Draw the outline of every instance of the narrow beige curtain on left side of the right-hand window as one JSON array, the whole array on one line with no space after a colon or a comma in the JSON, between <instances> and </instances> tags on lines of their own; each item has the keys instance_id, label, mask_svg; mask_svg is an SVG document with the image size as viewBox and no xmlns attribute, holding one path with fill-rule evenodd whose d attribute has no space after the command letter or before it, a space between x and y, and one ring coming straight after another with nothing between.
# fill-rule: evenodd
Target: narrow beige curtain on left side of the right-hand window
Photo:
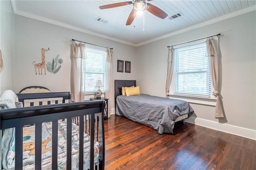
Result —
<instances>
[{"instance_id":1,"label":"narrow beige curtain on left side of the right-hand window","mask_svg":"<svg viewBox=\"0 0 256 170\"><path fill-rule=\"evenodd\" d=\"M165 86L165 93L166 97L169 97L169 89L172 81L172 72L173 72L173 65L174 65L174 49L173 47L169 47L168 59L167 59L167 77L166 77L166 86Z\"/></svg>"}]
</instances>

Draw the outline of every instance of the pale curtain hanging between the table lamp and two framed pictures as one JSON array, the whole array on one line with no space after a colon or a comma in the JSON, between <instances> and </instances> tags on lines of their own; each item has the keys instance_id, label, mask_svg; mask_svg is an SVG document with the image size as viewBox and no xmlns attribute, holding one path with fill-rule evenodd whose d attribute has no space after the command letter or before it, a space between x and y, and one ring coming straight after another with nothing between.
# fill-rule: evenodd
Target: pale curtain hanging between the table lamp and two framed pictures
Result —
<instances>
[{"instance_id":1,"label":"pale curtain hanging between the table lamp and two framed pictures","mask_svg":"<svg viewBox=\"0 0 256 170\"><path fill-rule=\"evenodd\" d=\"M106 57L106 91L105 96L108 98L108 115L111 113L111 109L114 108L114 89L113 89L113 81L112 81L112 58L113 51L112 49L107 49L107 57Z\"/></svg>"}]
</instances>

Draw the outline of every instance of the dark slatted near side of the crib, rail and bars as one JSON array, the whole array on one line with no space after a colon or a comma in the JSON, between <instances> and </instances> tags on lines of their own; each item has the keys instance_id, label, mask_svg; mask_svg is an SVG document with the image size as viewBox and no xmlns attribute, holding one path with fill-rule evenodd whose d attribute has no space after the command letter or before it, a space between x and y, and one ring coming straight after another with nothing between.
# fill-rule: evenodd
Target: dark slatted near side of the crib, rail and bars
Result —
<instances>
[{"instance_id":1,"label":"dark slatted near side of the crib, rail and bars","mask_svg":"<svg viewBox=\"0 0 256 170\"><path fill-rule=\"evenodd\" d=\"M32 93L31 93L32 94ZM42 98L49 96L42 94ZM19 94L19 99L22 100ZM63 95L63 94L62 94ZM56 96L54 96L56 97ZM62 96L63 97L63 96ZM38 96L36 97L38 98ZM27 99L27 96L26 96ZM58 120L67 121L67 170L71 170L72 156L72 119L78 118L79 123L79 169L83 169L83 144L84 144L84 127L88 119L90 130L90 169L94 167L94 140L99 141L99 166L96 169L104 169L104 102L105 101L84 101L74 103L64 103L58 105L44 105L34 107L23 107L15 109L1 110L0 129L15 128L15 169L22 169L22 142L23 127L26 125L35 125L35 169L41 169L42 159L42 123L52 121L52 169L58 166Z\"/></svg>"}]
</instances>

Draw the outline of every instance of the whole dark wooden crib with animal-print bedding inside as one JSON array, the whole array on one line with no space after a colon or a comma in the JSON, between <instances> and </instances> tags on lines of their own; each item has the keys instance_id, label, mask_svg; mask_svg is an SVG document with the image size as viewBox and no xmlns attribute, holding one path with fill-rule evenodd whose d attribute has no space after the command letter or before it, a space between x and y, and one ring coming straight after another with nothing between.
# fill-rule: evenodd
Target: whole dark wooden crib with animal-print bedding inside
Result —
<instances>
[{"instance_id":1,"label":"whole dark wooden crib with animal-print bedding inside","mask_svg":"<svg viewBox=\"0 0 256 170\"><path fill-rule=\"evenodd\" d=\"M104 170L105 101L74 102L70 92L17 96L29 107L0 110L3 169Z\"/></svg>"}]
</instances>

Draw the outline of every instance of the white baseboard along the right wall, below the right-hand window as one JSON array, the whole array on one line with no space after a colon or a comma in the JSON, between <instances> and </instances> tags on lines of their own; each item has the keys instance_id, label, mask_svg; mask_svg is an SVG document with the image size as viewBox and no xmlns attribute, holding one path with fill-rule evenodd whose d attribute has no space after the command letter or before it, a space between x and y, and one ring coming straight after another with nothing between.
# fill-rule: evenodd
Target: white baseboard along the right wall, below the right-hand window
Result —
<instances>
[{"instance_id":1,"label":"white baseboard along the right wall, below the right-hand window","mask_svg":"<svg viewBox=\"0 0 256 170\"><path fill-rule=\"evenodd\" d=\"M236 136L241 136L244 138L256 140L256 130L253 130L250 128L238 127L238 126L228 125L228 124L221 124L215 121L201 119L198 117L189 117L188 119L185 120L185 122L206 127L206 128L211 128L211 129L229 133L229 134L234 134Z\"/></svg>"}]
</instances>

